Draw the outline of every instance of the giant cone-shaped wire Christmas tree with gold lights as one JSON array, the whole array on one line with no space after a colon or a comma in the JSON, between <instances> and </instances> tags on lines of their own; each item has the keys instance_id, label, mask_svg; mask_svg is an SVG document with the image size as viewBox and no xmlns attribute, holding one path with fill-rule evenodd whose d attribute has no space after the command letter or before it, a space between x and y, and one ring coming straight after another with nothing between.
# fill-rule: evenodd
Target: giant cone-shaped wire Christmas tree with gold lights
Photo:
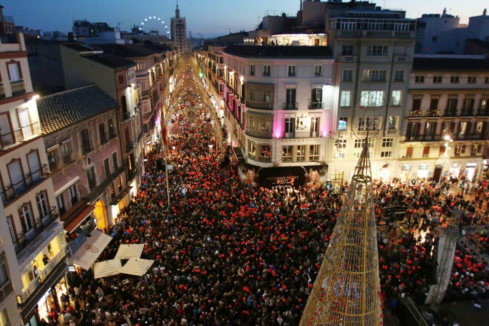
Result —
<instances>
[{"instance_id":1,"label":"giant cone-shaped wire Christmas tree with gold lights","mask_svg":"<svg viewBox=\"0 0 489 326\"><path fill-rule=\"evenodd\" d=\"M301 326L381 325L371 175L367 137Z\"/></svg>"}]
</instances>

